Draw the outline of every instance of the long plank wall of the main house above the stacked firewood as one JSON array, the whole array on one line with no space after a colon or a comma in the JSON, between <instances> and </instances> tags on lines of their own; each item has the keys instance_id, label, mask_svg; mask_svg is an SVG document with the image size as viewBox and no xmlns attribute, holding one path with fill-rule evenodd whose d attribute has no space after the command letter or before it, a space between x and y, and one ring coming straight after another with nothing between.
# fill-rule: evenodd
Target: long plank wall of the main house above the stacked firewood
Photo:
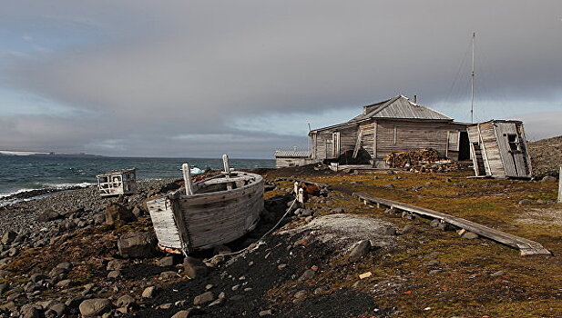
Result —
<instances>
[{"instance_id":1,"label":"long plank wall of the main house above the stacked firewood","mask_svg":"<svg viewBox=\"0 0 562 318\"><path fill-rule=\"evenodd\" d=\"M393 152L433 148L440 156L457 160L458 139L456 143L451 143L451 139L458 138L460 131L465 131L462 124L377 120L373 153L375 158L383 159Z\"/></svg>"}]
</instances>

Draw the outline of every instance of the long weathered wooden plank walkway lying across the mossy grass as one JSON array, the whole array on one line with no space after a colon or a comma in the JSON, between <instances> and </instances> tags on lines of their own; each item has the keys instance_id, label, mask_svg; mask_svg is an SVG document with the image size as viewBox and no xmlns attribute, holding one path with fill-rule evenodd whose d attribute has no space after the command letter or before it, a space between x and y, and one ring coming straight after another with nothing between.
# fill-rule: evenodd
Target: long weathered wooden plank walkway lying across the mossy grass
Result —
<instances>
[{"instance_id":1,"label":"long weathered wooden plank walkway lying across the mossy grass","mask_svg":"<svg viewBox=\"0 0 562 318\"><path fill-rule=\"evenodd\" d=\"M457 227L465 229L466 231L487 237L490 240L515 247L520 251L521 256L551 254L540 243L536 243L535 241L527 240L526 238L519 237L513 234L508 234L482 224L476 224L460 217L444 214L430 209L425 209L423 207L418 207L411 204L403 204L392 200L386 200L373 196L371 194L354 193L353 195L359 197L365 204L373 203L377 204L377 206L379 207L380 205L388 206L389 208L393 208L395 210L406 211L412 214L420 214L442 220L447 224L453 224Z\"/></svg>"}]
</instances>

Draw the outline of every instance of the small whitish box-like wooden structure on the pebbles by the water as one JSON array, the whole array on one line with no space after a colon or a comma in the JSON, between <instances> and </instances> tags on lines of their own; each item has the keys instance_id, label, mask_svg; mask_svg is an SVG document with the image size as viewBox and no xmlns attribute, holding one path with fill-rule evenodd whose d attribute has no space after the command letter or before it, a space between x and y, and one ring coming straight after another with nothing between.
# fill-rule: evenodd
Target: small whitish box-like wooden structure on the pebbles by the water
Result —
<instances>
[{"instance_id":1,"label":"small whitish box-like wooden structure on the pebbles by the water","mask_svg":"<svg viewBox=\"0 0 562 318\"><path fill-rule=\"evenodd\" d=\"M137 169L120 169L97 174L99 195L132 194L137 191Z\"/></svg>"}]
</instances>

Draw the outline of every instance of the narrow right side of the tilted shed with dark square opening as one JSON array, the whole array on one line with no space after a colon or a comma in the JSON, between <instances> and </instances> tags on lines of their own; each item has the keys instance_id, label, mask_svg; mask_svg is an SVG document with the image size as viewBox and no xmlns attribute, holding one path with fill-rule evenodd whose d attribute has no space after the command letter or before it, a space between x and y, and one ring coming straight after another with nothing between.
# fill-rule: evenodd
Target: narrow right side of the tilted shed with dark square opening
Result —
<instances>
[{"instance_id":1,"label":"narrow right side of the tilted shed with dark square opening","mask_svg":"<svg viewBox=\"0 0 562 318\"><path fill-rule=\"evenodd\" d=\"M506 176L529 176L525 149L523 149L523 137L518 134L516 124L496 124L496 137L502 153Z\"/></svg>"}]
</instances>

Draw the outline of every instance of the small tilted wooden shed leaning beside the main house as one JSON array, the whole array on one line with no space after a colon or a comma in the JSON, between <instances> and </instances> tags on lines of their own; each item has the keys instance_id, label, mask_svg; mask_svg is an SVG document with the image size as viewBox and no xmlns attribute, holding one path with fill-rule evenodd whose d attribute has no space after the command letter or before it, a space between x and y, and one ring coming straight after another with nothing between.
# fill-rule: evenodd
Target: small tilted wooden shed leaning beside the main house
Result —
<instances>
[{"instance_id":1,"label":"small tilted wooden shed leaning beside the main house","mask_svg":"<svg viewBox=\"0 0 562 318\"><path fill-rule=\"evenodd\" d=\"M531 177L533 169L522 122L491 120L472 124L467 131L476 176Z\"/></svg>"}]
</instances>

